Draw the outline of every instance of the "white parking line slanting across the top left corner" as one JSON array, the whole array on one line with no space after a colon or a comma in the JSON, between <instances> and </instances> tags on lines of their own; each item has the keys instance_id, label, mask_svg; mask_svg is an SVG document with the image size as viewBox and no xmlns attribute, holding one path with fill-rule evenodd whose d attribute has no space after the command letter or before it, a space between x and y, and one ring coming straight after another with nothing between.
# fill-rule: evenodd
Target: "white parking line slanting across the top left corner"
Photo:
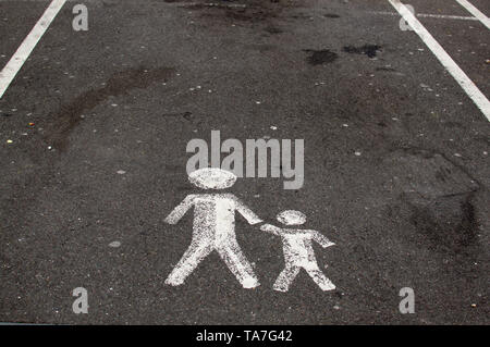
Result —
<instances>
[{"instance_id":1,"label":"white parking line slanting across the top left corner","mask_svg":"<svg viewBox=\"0 0 490 347\"><path fill-rule=\"evenodd\" d=\"M52 0L42 16L37 21L30 33L24 39L22 45L12 55L5 67L0 72L0 99L3 97L7 88L10 86L15 75L24 65L37 42L40 40L51 22L57 16L66 0Z\"/></svg>"}]
</instances>

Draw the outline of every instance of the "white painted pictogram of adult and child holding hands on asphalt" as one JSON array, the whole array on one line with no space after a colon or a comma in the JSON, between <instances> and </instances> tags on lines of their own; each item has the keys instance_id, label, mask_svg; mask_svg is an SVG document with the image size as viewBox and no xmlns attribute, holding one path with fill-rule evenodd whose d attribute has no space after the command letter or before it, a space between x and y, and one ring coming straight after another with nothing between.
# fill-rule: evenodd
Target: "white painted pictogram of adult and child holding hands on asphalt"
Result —
<instances>
[{"instance_id":1,"label":"white painted pictogram of adult and child holding hands on asphalt","mask_svg":"<svg viewBox=\"0 0 490 347\"><path fill-rule=\"evenodd\" d=\"M205 168L189 174L189 181L203 189L224 189L233 186L236 176L229 171ZM233 194L191 194L185 197L166 218L169 224L176 224L194 207L193 239L191 246L172 270L166 284L179 286L213 250L223 259L230 271L244 288L260 285L254 269L240 249L235 235L235 211L240 212L249 224L262 221ZM286 210L278 214L278 221L284 225L302 225L306 216L299 211ZM287 292L291 283L304 269L322 290L333 290L335 285L318 267L313 241L323 248L333 246L327 237L311 230L281 228L265 224L261 231L282 238L285 268L273 285L274 290Z\"/></svg>"}]
</instances>

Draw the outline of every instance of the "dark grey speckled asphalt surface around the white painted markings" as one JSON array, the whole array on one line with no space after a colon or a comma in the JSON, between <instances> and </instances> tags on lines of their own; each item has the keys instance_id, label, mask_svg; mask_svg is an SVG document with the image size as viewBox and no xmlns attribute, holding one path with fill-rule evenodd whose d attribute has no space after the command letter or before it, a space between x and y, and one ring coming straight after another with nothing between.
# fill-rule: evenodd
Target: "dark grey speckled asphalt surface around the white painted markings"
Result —
<instances>
[{"instance_id":1,"label":"dark grey speckled asphalt surface around the white painted markings","mask_svg":"<svg viewBox=\"0 0 490 347\"><path fill-rule=\"evenodd\" d=\"M48 3L0 1L2 66ZM87 32L72 29L75 3L0 99L0 321L490 323L489 123L388 1L88 1ZM489 30L419 20L489 96ZM241 178L232 193L268 222L303 211L335 243L315 246L335 290L305 272L272 290L281 240L241 218L258 288L217 253L184 285L163 283L192 238L192 213L163 222L195 191L186 145L212 129L305 139L303 188ZM72 311L75 287L87 314ZM414 314L399 311L402 287Z\"/></svg>"}]
</instances>

